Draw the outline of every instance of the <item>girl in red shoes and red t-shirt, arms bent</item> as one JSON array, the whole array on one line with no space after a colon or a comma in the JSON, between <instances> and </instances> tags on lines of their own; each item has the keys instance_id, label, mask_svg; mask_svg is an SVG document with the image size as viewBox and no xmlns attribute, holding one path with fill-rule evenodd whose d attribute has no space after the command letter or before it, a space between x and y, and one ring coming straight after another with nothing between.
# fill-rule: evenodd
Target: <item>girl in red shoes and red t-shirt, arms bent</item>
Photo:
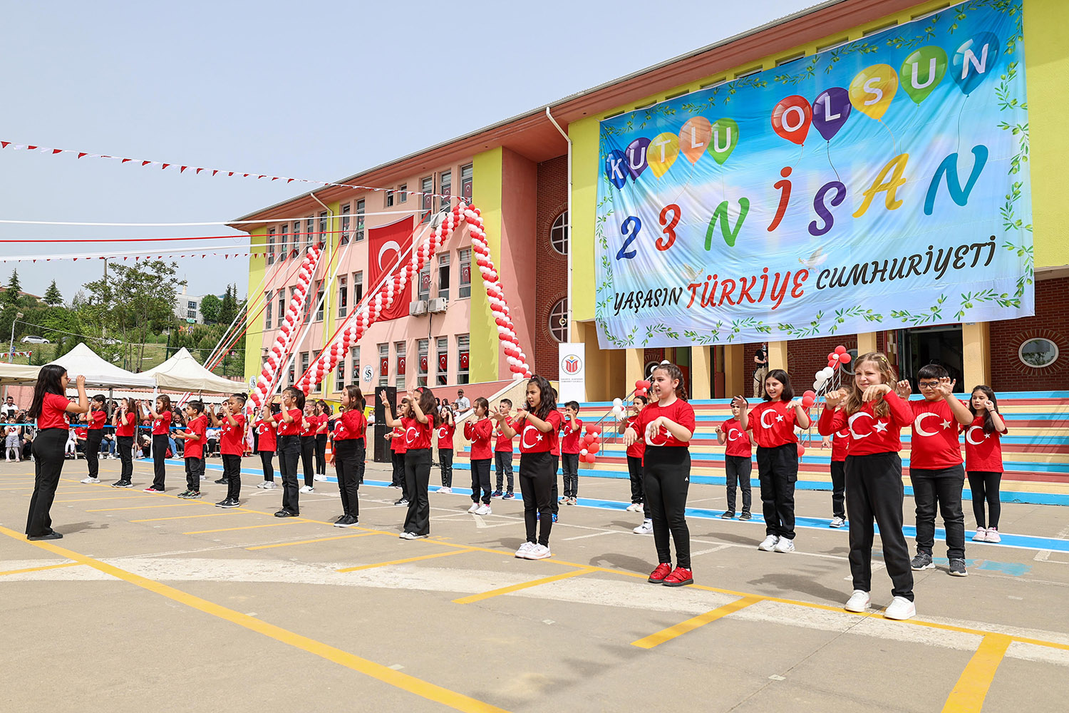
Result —
<instances>
[{"instance_id":1,"label":"girl in red shoes and red t-shirt, arms bent","mask_svg":"<svg viewBox=\"0 0 1069 713\"><path fill-rule=\"evenodd\" d=\"M642 456L642 485L653 520L653 544L657 567L650 582L666 587L694 584L691 571L691 530L686 526L686 492L691 484L691 437L694 407L686 402L683 372L673 363L662 362L650 375L657 399L638 413L634 427L623 433L624 446L646 440ZM676 569L671 569L668 536L676 543Z\"/></svg>"}]
</instances>

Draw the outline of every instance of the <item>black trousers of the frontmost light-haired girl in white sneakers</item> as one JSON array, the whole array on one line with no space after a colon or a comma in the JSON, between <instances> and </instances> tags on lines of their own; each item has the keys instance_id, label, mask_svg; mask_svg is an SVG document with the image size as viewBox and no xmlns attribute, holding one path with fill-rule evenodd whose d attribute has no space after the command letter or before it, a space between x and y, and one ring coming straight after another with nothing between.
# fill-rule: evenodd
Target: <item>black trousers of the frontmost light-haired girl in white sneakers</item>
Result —
<instances>
[{"instance_id":1,"label":"black trousers of the frontmost light-haired girl in white sneakers","mask_svg":"<svg viewBox=\"0 0 1069 713\"><path fill-rule=\"evenodd\" d=\"M880 526L883 562L894 596L913 601L910 549L902 534L902 459L898 453L848 455L847 511L850 513L850 574L854 589L872 591L872 521Z\"/></svg>"}]
</instances>

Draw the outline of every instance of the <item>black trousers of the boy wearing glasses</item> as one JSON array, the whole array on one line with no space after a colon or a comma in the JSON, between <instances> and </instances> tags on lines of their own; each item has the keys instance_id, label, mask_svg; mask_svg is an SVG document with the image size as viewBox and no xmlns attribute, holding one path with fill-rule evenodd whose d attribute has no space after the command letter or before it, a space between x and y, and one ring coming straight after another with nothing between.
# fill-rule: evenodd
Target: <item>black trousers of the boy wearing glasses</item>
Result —
<instances>
[{"instance_id":1,"label":"black trousers of the boy wearing glasses","mask_svg":"<svg viewBox=\"0 0 1069 713\"><path fill-rule=\"evenodd\" d=\"M965 558L965 515L961 511L961 489L965 485L965 466L928 470L910 468L913 501L917 509L917 552L932 554L935 544L935 506L946 529L947 557Z\"/></svg>"}]
</instances>

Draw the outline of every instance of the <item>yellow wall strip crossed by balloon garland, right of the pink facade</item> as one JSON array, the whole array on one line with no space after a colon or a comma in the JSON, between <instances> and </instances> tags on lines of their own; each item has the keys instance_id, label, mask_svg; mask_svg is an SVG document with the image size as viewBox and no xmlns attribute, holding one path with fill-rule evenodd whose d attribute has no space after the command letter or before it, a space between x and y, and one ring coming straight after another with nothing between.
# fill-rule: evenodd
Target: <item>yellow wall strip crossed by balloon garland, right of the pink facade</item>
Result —
<instances>
[{"instance_id":1,"label":"yellow wall strip crossed by balloon garland, right of the pink facade","mask_svg":"<svg viewBox=\"0 0 1069 713\"><path fill-rule=\"evenodd\" d=\"M472 162L471 203L482 215L483 229L486 231L486 244L490 254L501 253L501 183L502 183L501 148L491 149L476 154ZM475 253L471 254L471 306L470 306L470 354L478 358L468 361L468 378L472 383L496 382L498 374L498 357L500 347L497 339L497 324L494 313L486 299L486 291L482 289L482 280L475 264Z\"/></svg>"}]
</instances>

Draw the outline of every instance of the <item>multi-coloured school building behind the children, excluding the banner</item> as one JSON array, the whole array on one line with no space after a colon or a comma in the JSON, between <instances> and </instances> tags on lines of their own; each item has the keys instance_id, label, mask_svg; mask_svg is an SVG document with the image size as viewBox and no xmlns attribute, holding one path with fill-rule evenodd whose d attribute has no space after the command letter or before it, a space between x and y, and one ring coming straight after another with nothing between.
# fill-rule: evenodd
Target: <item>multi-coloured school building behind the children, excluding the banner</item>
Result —
<instances>
[{"instance_id":1,"label":"multi-coloured school building behind the children, excluding the banner","mask_svg":"<svg viewBox=\"0 0 1069 713\"><path fill-rule=\"evenodd\" d=\"M338 182L390 190L323 187L243 216L257 222L234 228L250 232L253 245L267 252L252 260L249 273L249 313L258 315L258 323L248 331L247 376L260 372L277 335L295 284L288 266L309 241L326 235L328 253L340 268L330 282L324 260L314 278L323 306L307 315L311 327L296 347L298 376L371 286L369 276L386 249L382 242L372 247L375 230L404 239L441 205L445 199L406 192L425 191L463 196L481 210L520 341L539 373L557 378L558 344L578 342L588 401L624 396L663 358L684 368L694 398L748 393L758 344L600 348L594 326L599 122L941 9L955 12L954 3L938 0L823 2ZM1065 27L1069 3L1023 0L1035 316L772 342L771 367L812 372L842 344L862 353L883 351L904 374L938 360L959 378L959 390L974 384L990 384L996 391L1069 388L1069 202L1060 195L1057 168L1069 156L1062 121L1069 76ZM409 217L414 210L415 218ZM415 379L449 387L451 397L458 385L470 384L475 394L481 393L477 385L489 392L507 381L494 316L478 277L472 284L470 262L466 231L458 231L419 276L403 315L374 324L322 392L329 398L352 382L403 388Z\"/></svg>"}]
</instances>

